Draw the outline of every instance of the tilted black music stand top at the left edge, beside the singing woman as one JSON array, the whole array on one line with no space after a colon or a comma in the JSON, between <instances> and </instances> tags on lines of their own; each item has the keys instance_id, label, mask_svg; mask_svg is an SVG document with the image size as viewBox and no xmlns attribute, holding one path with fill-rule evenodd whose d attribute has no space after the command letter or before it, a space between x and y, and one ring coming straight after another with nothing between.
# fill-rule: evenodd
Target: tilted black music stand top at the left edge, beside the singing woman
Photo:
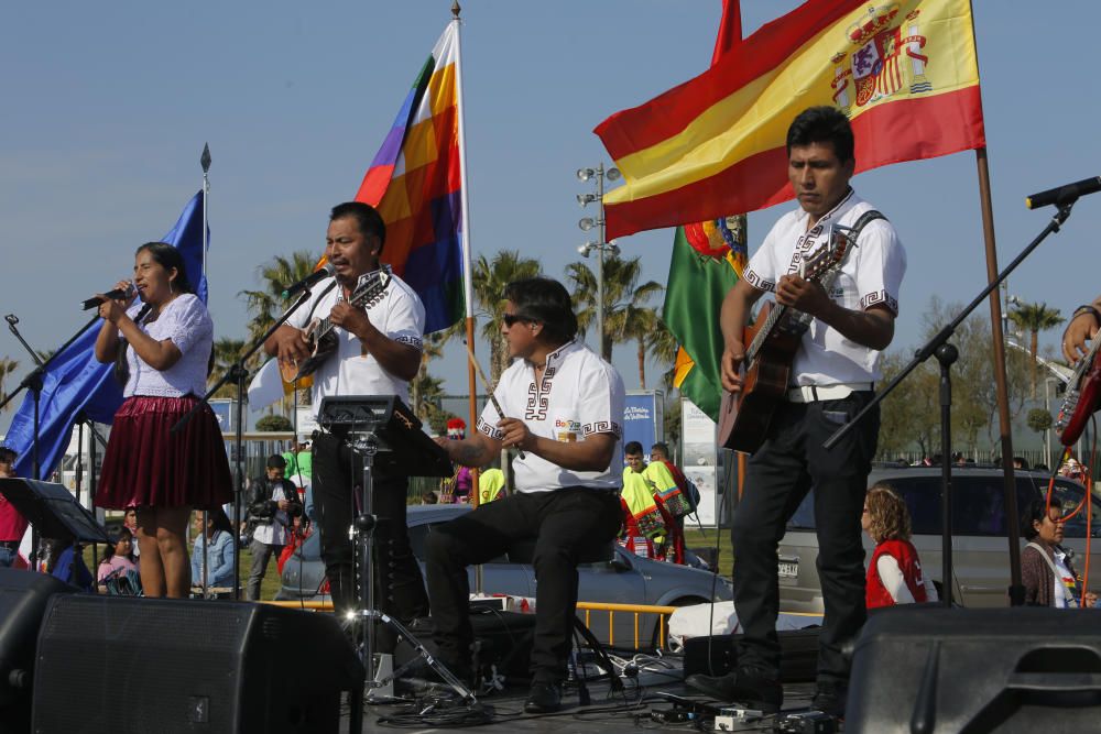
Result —
<instances>
[{"instance_id":1,"label":"tilted black music stand top at the left edge, beside the singing woman","mask_svg":"<svg viewBox=\"0 0 1101 734\"><path fill-rule=\"evenodd\" d=\"M61 484L33 479L0 479L0 494L30 521L43 538L72 543L110 543L96 517Z\"/></svg>"}]
</instances>

